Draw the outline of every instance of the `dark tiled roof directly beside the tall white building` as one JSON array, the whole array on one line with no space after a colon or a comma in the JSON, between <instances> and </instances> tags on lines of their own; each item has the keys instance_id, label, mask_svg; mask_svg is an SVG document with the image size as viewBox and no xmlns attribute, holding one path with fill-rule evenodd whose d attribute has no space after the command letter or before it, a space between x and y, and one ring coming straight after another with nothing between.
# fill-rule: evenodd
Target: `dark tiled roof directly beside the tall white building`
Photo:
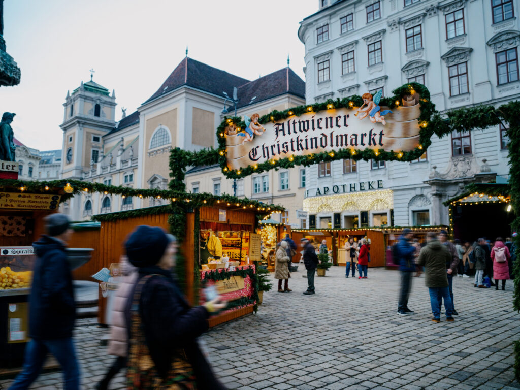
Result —
<instances>
[{"instance_id":1,"label":"dark tiled roof directly beside the tall white building","mask_svg":"<svg viewBox=\"0 0 520 390\"><path fill-rule=\"evenodd\" d=\"M237 108L248 106L255 96L253 103L288 93L305 98L305 82L289 67L240 86Z\"/></svg>"}]
</instances>

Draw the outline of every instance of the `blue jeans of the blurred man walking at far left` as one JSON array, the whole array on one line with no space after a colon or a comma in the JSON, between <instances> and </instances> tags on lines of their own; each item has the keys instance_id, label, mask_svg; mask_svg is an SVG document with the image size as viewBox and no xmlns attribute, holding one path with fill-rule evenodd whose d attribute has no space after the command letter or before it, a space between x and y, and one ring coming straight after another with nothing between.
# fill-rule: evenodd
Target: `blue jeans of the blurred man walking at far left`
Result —
<instances>
[{"instance_id":1,"label":"blue jeans of the blurred man walking at far left","mask_svg":"<svg viewBox=\"0 0 520 390\"><path fill-rule=\"evenodd\" d=\"M65 390L79 390L80 370L71 338L55 340L31 340L25 347L23 371L16 377L9 390L27 389L36 380L47 353L54 355L63 369Z\"/></svg>"}]
</instances>

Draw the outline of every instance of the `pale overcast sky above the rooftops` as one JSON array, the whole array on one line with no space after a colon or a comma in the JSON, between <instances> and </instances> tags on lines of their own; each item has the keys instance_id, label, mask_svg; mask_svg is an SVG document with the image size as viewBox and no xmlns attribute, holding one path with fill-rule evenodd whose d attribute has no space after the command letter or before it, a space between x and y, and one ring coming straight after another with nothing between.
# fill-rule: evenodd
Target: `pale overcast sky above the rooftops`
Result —
<instances>
[{"instance_id":1,"label":"pale overcast sky above the rooftops","mask_svg":"<svg viewBox=\"0 0 520 390\"><path fill-rule=\"evenodd\" d=\"M67 90L90 79L136 110L188 56L254 80L283 68L303 79L299 22L317 0L5 0L7 53L21 83L0 87L0 111L15 112L15 137L61 149Z\"/></svg>"}]
</instances>

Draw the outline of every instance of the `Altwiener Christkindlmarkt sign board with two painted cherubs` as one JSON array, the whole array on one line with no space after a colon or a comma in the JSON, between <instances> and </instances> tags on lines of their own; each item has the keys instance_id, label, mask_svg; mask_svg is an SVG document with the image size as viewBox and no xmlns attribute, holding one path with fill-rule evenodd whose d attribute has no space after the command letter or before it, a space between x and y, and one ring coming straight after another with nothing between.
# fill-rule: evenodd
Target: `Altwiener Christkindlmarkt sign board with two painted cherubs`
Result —
<instances>
[{"instance_id":1,"label":"Altwiener Christkindlmarkt sign board with two painted cherubs","mask_svg":"<svg viewBox=\"0 0 520 390\"><path fill-rule=\"evenodd\" d=\"M270 115L266 120L251 113L251 117L244 116L243 128L226 119L219 134L225 140L225 149L220 151L226 157L224 171L255 170L260 164L276 165L281 159L313 158L319 153L333 157L341 150L352 155L368 150L371 157L391 151L402 157L405 152L421 150L421 133L427 126L421 120L422 105L429 102L427 89L421 87L410 86L391 104L382 99L380 91L365 93L360 99L330 101L323 110L308 106L301 112L302 107L295 108L279 119Z\"/></svg>"}]
</instances>

